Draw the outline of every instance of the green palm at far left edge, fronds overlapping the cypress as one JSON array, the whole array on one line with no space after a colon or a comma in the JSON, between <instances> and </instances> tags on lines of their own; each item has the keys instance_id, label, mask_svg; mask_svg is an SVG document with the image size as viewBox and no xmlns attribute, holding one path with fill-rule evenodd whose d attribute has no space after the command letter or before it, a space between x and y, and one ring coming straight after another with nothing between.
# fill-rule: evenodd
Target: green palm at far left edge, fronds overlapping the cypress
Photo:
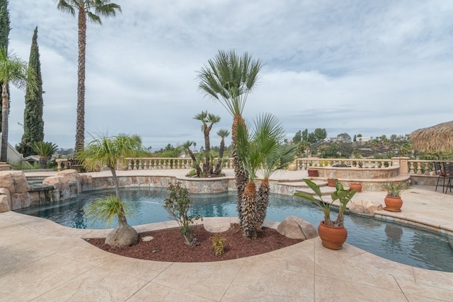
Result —
<instances>
[{"instance_id":1,"label":"green palm at far left edge, fronds overlapping the cypress","mask_svg":"<svg viewBox=\"0 0 453 302\"><path fill-rule=\"evenodd\" d=\"M8 84L13 83L19 89L25 89L26 86L34 89L38 86L36 73L33 68L16 56L6 52L6 49L0 50L0 83L1 83L1 156L0 161L6 162L8 158ZM34 92L30 96L35 97Z\"/></svg>"}]
</instances>

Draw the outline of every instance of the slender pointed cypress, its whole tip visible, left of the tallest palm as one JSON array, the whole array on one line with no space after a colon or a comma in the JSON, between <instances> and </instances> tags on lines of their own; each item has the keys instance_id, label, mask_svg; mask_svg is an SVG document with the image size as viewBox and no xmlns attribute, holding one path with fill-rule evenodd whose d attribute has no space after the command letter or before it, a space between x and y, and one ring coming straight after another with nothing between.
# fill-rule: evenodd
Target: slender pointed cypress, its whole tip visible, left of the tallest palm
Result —
<instances>
[{"instance_id":1,"label":"slender pointed cypress, its whole tip visible, left of the tallest palm","mask_svg":"<svg viewBox=\"0 0 453 302\"><path fill-rule=\"evenodd\" d=\"M32 93L29 86L25 90L25 110L23 112L23 135L22 141L16 149L23 153L23 156L34 154L33 144L35 141L43 141L44 139L44 121L42 120L42 78L41 78L41 63L40 52L38 48L38 26L33 33L31 42L30 59L28 66L35 69L36 72L36 87ZM31 97L30 95L35 95Z\"/></svg>"}]
</instances>

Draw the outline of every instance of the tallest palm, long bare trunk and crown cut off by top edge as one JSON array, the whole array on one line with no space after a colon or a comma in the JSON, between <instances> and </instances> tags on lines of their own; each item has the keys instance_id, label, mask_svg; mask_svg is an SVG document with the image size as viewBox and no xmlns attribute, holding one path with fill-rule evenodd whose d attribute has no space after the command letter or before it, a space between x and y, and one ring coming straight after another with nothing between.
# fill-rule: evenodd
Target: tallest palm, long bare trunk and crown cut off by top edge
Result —
<instances>
[{"instance_id":1,"label":"tallest palm, long bare trunk and crown cut off by top edge","mask_svg":"<svg viewBox=\"0 0 453 302\"><path fill-rule=\"evenodd\" d=\"M57 8L70 13L78 13L79 24L79 64L77 69L77 122L76 151L84 149L85 141L85 56L86 56L86 20L102 25L101 17L115 16L121 6L110 0L58 0Z\"/></svg>"}]
</instances>

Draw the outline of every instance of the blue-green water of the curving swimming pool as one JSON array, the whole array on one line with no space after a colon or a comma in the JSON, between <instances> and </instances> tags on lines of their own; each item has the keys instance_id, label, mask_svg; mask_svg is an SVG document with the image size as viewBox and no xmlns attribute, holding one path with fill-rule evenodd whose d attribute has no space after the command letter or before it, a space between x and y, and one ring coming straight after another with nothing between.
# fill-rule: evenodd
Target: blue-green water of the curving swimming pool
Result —
<instances>
[{"instance_id":1,"label":"blue-green water of the curving swimming pool","mask_svg":"<svg viewBox=\"0 0 453 302\"><path fill-rule=\"evenodd\" d=\"M114 194L112 190L85 192L59 204L46 204L16 210L23 214L50 219L71 228L107 228L102 221L91 221L84 215L84 206L98 197ZM165 188L122 189L122 199L130 205L134 216L127 216L131 226L168 221L168 213L162 207L168 197ZM193 194L193 214L203 217L237 216L236 193ZM332 213L336 216L336 213ZM283 221L287 216L299 216L318 226L323 219L322 212L311 202L282 194L270 194L266 219ZM374 255L400 262L413 267L453 272L453 238L419 228L401 226L396 223L376 219L345 215L348 228L347 243L371 252Z\"/></svg>"}]
</instances>

